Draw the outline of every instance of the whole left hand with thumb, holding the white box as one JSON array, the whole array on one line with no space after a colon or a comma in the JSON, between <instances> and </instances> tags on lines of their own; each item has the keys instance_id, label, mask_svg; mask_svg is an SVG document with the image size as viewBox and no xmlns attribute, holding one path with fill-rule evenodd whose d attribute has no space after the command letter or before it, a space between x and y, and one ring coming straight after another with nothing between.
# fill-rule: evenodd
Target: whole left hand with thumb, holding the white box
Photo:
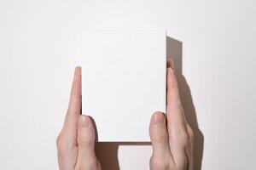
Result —
<instances>
[{"instance_id":1,"label":"whole left hand with thumb, holding the white box","mask_svg":"<svg viewBox=\"0 0 256 170\"><path fill-rule=\"evenodd\" d=\"M57 138L61 170L101 170L95 153L95 132L89 116L81 111L81 68L77 67L64 126Z\"/></svg>"}]
</instances>

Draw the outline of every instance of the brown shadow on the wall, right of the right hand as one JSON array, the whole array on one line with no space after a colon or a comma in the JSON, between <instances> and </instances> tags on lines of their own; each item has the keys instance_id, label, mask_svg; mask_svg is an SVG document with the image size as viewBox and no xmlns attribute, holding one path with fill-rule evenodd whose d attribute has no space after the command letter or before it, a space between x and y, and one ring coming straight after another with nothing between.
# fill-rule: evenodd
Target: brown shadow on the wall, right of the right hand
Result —
<instances>
[{"instance_id":1,"label":"brown shadow on the wall, right of the right hand","mask_svg":"<svg viewBox=\"0 0 256 170\"><path fill-rule=\"evenodd\" d=\"M177 77L179 94L183 104L183 110L187 122L194 131L194 170L201 170L201 161L204 149L204 136L198 127L196 118L195 106L193 104L192 95L189 85L183 76L183 42L179 42L172 37L166 38L167 58L172 58L175 67L175 74Z\"/></svg>"}]
</instances>

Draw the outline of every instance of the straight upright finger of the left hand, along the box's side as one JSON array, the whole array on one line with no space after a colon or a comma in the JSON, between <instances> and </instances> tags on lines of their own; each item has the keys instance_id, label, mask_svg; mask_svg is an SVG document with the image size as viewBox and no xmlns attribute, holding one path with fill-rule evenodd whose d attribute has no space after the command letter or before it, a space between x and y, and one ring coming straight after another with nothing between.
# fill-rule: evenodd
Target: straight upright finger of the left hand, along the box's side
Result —
<instances>
[{"instance_id":1,"label":"straight upright finger of the left hand, along the box's side","mask_svg":"<svg viewBox=\"0 0 256 170\"><path fill-rule=\"evenodd\" d=\"M70 93L70 100L67 109L67 115L64 122L63 131L67 135L69 144L76 144L77 142L77 126L78 116L81 108L81 67L76 67L73 77L73 84Z\"/></svg>"}]
</instances>

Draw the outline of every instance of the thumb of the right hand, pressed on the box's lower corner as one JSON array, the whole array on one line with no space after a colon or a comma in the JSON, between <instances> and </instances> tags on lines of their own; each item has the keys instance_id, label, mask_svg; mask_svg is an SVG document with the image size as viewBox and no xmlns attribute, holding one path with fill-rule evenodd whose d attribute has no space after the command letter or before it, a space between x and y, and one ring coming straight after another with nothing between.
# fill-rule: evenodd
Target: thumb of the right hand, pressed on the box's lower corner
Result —
<instances>
[{"instance_id":1,"label":"thumb of the right hand, pressed on the box's lower corner","mask_svg":"<svg viewBox=\"0 0 256 170\"><path fill-rule=\"evenodd\" d=\"M166 117L161 112L155 112L151 117L149 134L153 146L153 158L156 161L170 159L169 138L166 127Z\"/></svg>"}]
</instances>

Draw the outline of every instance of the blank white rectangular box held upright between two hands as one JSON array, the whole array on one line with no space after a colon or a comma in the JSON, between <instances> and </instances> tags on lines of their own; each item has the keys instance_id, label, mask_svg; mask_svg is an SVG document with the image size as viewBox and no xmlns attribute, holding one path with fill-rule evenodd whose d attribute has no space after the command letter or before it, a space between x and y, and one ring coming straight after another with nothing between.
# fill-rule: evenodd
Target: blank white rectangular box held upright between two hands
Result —
<instances>
[{"instance_id":1,"label":"blank white rectangular box held upright between two hands","mask_svg":"<svg viewBox=\"0 0 256 170\"><path fill-rule=\"evenodd\" d=\"M166 31L83 31L82 111L98 141L150 141L166 111Z\"/></svg>"}]
</instances>

